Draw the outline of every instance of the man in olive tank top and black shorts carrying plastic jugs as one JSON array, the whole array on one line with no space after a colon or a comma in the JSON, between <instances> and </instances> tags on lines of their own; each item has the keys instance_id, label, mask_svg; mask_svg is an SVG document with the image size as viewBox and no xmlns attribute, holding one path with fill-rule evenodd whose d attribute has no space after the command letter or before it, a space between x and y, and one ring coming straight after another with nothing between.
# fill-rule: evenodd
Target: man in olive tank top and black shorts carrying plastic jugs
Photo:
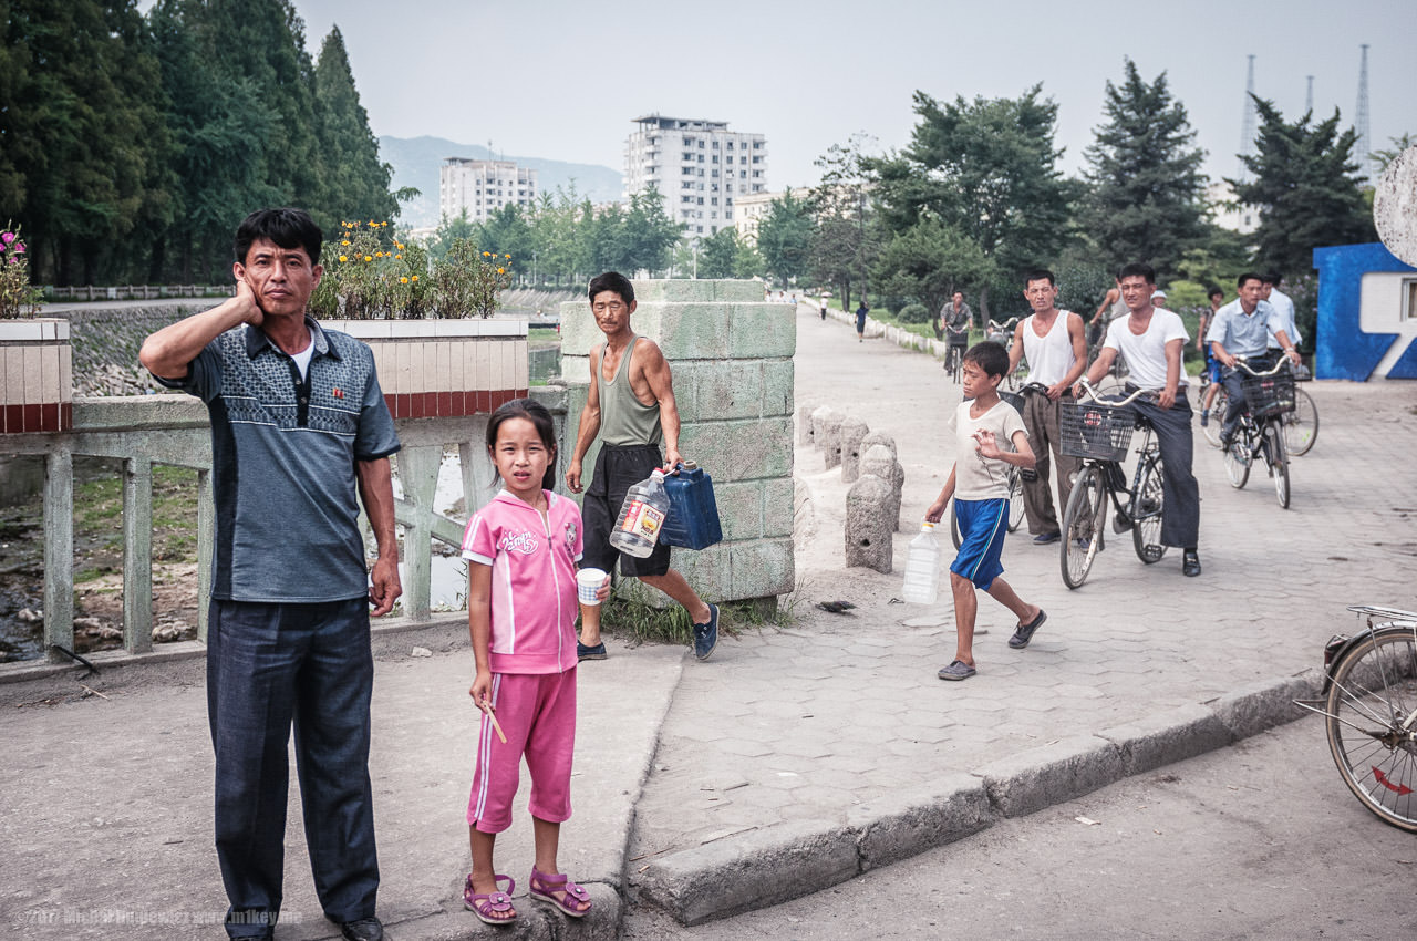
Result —
<instances>
[{"instance_id":1,"label":"man in olive tank top and black shorts carrying plastic jugs","mask_svg":"<svg viewBox=\"0 0 1417 941\"><path fill-rule=\"evenodd\" d=\"M581 565L611 571L619 560L622 575L639 578L682 604L694 625L694 656L707 660L718 643L718 608L704 602L684 577L669 567L669 546L659 543L648 558L635 558L609 544L625 492L655 468L672 470L682 461L679 408L669 360L652 340L631 330L629 316L636 305L629 279L605 272L591 281L589 299L605 343L591 347L591 385L581 410L575 451L565 469L565 486L571 493L581 493L581 462L599 436L601 452L589 485L584 488ZM582 607L581 612L577 653L582 660L604 660L601 609Z\"/></svg>"}]
</instances>

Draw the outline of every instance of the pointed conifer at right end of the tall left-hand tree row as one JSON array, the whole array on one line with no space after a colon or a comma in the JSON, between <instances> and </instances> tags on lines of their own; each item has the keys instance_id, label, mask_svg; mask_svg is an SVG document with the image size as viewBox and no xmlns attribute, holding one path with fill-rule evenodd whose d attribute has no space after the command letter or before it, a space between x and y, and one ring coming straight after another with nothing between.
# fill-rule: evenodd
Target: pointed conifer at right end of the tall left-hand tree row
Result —
<instances>
[{"instance_id":1,"label":"pointed conifer at right end of the tall left-hand tree row","mask_svg":"<svg viewBox=\"0 0 1417 941\"><path fill-rule=\"evenodd\" d=\"M387 220L398 214L388 187L394 169L380 162L378 139L368 126L339 27L330 30L315 67L315 109L323 154L323 214L346 220ZM317 220L329 228L330 221ZM332 230L333 231L333 230ZM530 259L527 259L530 261Z\"/></svg>"}]
</instances>

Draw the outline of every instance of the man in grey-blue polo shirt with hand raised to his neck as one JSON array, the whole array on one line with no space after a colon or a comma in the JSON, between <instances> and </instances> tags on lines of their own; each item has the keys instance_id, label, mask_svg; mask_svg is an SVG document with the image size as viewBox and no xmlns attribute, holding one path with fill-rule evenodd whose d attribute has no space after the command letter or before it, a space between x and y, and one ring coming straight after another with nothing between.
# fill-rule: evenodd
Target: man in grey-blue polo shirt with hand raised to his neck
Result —
<instances>
[{"instance_id":1,"label":"man in grey-blue polo shirt with hand raised to his neck","mask_svg":"<svg viewBox=\"0 0 1417 941\"><path fill-rule=\"evenodd\" d=\"M252 213L237 230L237 296L153 333L139 353L211 414L207 714L232 938L272 938L281 914L292 724L324 915L351 941L384 937L368 605L387 614L401 594L388 465L398 436L370 349L305 312L322 242L300 210ZM356 490L378 541L371 573Z\"/></svg>"}]
</instances>

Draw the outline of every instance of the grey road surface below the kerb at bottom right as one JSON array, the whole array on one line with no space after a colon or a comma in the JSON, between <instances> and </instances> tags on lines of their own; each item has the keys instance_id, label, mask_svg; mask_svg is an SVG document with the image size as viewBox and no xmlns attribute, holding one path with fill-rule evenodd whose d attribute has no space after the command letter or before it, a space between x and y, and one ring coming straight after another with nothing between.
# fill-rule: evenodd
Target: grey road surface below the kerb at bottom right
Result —
<instances>
[{"instance_id":1,"label":"grey road surface below the kerb at bottom right","mask_svg":"<svg viewBox=\"0 0 1417 941\"><path fill-rule=\"evenodd\" d=\"M774 908L632 911L623 938L1411 938L1414 870L1305 719Z\"/></svg>"}]
</instances>

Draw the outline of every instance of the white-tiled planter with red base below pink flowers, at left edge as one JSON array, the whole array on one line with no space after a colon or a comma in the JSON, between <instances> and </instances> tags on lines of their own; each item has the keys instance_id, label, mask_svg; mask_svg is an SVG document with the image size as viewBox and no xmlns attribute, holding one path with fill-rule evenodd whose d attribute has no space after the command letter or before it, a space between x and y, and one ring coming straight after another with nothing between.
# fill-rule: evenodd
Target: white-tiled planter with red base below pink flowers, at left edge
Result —
<instances>
[{"instance_id":1,"label":"white-tiled planter with red base below pink flowers, at left edge","mask_svg":"<svg viewBox=\"0 0 1417 941\"><path fill-rule=\"evenodd\" d=\"M74 427L69 322L0 320L0 434Z\"/></svg>"}]
</instances>

